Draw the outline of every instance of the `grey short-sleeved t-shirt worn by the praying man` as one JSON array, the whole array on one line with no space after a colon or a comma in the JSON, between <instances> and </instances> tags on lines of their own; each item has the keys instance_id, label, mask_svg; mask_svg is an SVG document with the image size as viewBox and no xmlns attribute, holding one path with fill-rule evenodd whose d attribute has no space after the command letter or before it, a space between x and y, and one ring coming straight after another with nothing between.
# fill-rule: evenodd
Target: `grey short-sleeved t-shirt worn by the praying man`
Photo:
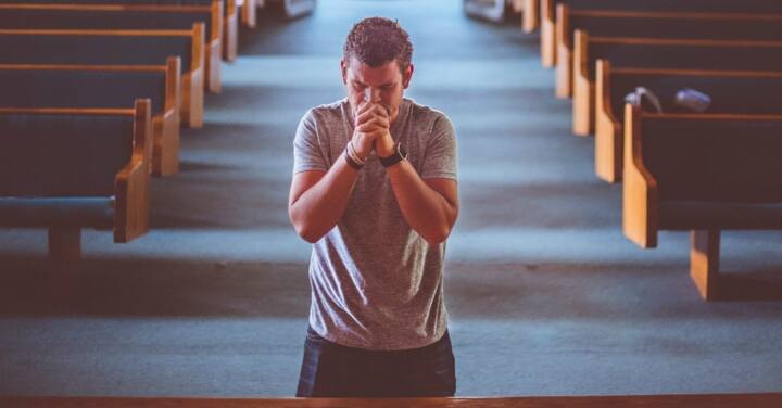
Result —
<instances>
[{"instance_id":1,"label":"grey short-sleeved t-shirt worn by the praying man","mask_svg":"<svg viewBox=\"0 0 782 408\"><path fill-rule=\"evenodd\" d=\"M310 110L297 129L293 173L328 170L353 133L346 99ZM442 112L404 99L391 126L421 178L456 180L456 138ZM358 173L345 212L313 245L310 324L350 347L424 347L445 332L445 243L429 245L405 221L374 154Z\"/></svg>"}]
</instances>

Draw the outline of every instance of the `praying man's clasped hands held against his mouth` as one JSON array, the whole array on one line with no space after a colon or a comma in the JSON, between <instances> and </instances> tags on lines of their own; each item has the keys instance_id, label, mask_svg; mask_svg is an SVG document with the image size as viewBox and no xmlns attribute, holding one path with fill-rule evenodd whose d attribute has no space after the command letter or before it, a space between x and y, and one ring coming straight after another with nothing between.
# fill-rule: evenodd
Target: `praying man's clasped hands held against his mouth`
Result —
<instances>
[{"instance_id":1,"label":"praying man's clasped hands held against his mouth","mask_svg":"<svg viewBox=\"0 0 782 408\"><path fill-rule=\"evenodd\" d=\"M364 102L355 113L355 123L351 143L360 158L375 150L378 157L394 154L394 141L391 138L390 109L376 102Z\"/></svg>"}]
</instances>

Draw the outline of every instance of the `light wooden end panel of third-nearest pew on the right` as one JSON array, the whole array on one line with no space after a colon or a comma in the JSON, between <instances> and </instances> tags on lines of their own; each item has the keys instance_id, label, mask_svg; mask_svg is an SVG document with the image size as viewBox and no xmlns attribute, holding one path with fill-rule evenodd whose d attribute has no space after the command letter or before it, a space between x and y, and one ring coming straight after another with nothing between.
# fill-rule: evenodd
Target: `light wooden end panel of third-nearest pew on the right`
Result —
<instances>
[{"instance_id":1,"label":"light wooden end panel of third-nearest pew on the right","mask_svg":"<svg viewBox=\"0 0 782 408\"><path fill-rule=\"evenodd\" d=\"M589 79L588 34L576 30L576 47L572 54L572 131L577 136L589 136L594 131L595 87Z\"/></svg>"}]
</instances>

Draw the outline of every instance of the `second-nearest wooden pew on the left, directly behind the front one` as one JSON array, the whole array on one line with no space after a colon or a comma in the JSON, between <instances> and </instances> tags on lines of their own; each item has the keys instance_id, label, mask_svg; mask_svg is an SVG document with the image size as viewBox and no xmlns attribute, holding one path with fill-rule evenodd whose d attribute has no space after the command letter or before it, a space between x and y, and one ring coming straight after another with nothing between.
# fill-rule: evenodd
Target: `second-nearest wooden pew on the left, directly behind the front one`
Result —
<instances>
[{"instance_id":1,"label":"second-nearest wooden pew on the left, directly behind the front one","mask_svg":"<svg viewBox=\"0 0 782 408\"><path fill-rule=\"evenodd\" d=\"M0 64L0 107L122 109L151 101L152 173L179 171L179 59L167 65Z\"/></svg>"}]
</instances>

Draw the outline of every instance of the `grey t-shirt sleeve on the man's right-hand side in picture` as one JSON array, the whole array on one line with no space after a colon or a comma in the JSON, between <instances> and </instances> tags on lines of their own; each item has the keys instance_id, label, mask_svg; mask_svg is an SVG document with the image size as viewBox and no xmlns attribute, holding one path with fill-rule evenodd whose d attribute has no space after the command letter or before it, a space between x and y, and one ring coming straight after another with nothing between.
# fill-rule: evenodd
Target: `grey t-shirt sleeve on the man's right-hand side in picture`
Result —
<instances>
[{"instance_id":1,"label":"grey t-shirt sleeve on the man's right-hand side in picture","mask_svg":"<svg viewBox=\"0 0 782 408\"><path fill-rule=\"evenodd\" d=\"M421 178L456 180L456 131L451 119L443 114L434 120L424 156Z\"/></svg>"}]
</instances>

